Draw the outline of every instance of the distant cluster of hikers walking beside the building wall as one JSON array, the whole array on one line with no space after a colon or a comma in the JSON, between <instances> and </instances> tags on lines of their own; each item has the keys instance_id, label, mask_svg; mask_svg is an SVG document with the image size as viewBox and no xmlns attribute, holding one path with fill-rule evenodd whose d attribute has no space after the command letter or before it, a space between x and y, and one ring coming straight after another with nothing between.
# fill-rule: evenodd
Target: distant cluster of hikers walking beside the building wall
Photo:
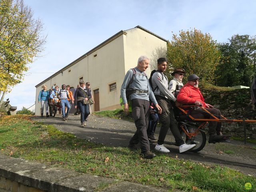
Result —
<instances>
[{"instance_id":1,"label":"distant cluster of hikers walking beside the building wall","mask_svg":"<svg viewBox=\"0 0 256 192\"><path fill-rule=\"evenodd\" d=\"M60 104L62 120L64 121L68 120L71 104L74 104L77 109L75 114L78 114L78 110L80 111L81 126L84 127L90 114L89 106L94 104L94 100L90 90L90 82L85 84L84 80L80 80L74 93L70 90L70 85L62 84L61 89L58 86L52 86L50 90L47 90L47 86L44 84L38 94L38 103L41 103L41 117L44 116L44 106L46 117L50 117L53 112L51 107L48 110L48 106Z\"/></svg>"}]
</instances>

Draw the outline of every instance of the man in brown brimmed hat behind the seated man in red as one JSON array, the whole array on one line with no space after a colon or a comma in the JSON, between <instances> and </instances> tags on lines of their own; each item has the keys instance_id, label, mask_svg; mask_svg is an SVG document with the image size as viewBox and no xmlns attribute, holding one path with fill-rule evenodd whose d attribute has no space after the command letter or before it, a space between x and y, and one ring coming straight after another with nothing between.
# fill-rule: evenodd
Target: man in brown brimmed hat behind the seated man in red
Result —
<instances>
[{"instance_id":1,"label":"man in brown brimmed hat behind the seated man in red","mask_svg":"<svg viewBox=\"0 0 256 192\"><path fill-rule=\"evenodd\" d=\"M169 90L174 94L176 90L180 90L183 87L182 78L185 74L185 70L182 68L174 69L174 72L171 73L174 76L173 80L169 83Z\"/></svg>"}]
</instances>

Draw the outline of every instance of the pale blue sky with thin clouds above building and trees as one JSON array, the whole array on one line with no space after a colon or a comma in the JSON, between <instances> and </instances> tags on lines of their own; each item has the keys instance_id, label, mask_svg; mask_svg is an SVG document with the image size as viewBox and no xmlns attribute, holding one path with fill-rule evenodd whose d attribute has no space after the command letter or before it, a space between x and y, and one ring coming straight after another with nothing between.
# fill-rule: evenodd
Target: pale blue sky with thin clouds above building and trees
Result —
<instances>
[{"instance_id":1,"label":"pale blue sky with thin clouds above building and trees","mask_svg":"<svg viewBox=\"0 0 256 192\"><path fill-rule=\"evenodd\" d=\"M255 0L24 0L44 23L45 50L29 64L24 81L5 97L21 109L34 104L35 85L120 30L140 25L172 40L196 28L217 42L256 35ZM136 64L134 64L136 65Z\"/></svg>"}]
</instances>

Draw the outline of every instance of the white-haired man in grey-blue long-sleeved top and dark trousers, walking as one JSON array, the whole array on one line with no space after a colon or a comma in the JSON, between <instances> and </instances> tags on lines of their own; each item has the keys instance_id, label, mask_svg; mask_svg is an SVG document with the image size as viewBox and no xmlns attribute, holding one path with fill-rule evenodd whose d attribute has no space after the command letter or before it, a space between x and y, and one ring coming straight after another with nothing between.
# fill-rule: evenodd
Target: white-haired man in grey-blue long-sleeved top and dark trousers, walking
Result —
<instances>
[{"instance_id":1,"label":"white-haired man in grey-blue long-sleeved top and dark trousers, walking","mask_svg":"<svg viewBox=\"0 0 256 192\"><path fill-rule=\"evenodd\" d=\"M149 120L149 99L154 103L158 113L162 109L156 102L156 98L151 90L148 77L144 73L148 68L149 59L146 56L140 56L138 64L135 68L128 70L124 77L121 87L121 97L124 103L124 112L128 112L128 102L126 93L130 92L130 100L132 101L132 117L137 128L134 136L131 138L128 148L135 149L136 144L140 143L140 149L144 158L153 158L156 155L150 151L148 141L147 128Z\"/></svg>"}]
</instances>

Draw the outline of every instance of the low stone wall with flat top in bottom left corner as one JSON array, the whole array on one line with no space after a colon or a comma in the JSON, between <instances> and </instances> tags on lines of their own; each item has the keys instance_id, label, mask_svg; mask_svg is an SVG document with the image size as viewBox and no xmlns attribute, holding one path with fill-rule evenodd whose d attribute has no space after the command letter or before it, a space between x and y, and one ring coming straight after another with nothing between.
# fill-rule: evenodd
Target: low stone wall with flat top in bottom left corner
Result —
<instances>
[{"instance_id":1,"label":"low stone wall with flat top in bottom left corner","mask_svg":"<svg viewBox=\"0 0 256 192\"><path fill-rule=\"evenodd\" d=\"M0 192L167 192L112 178L89 175L44 164L11 158L0 152Z\"/></svg>"}]
</instances>

